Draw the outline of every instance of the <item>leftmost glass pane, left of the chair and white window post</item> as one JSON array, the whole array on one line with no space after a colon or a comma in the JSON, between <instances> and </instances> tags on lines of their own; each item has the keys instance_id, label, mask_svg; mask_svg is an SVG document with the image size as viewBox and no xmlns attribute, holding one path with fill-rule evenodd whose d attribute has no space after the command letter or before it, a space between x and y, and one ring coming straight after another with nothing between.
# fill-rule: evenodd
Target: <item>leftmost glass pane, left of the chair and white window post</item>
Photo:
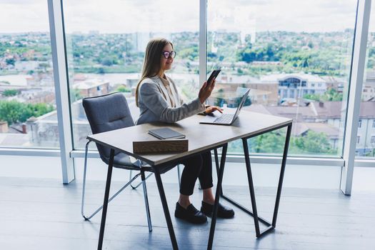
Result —
<instances>
[{"instance_id":1,"label":"leftmost glass pane, left of the chair and white window post","mask_svg":"<svg viewBox=\"0 0 375 250\"><path fill-rule=\"evenodd\" d=\"M0 16L0 147L59 148L47 2L0 1Z\"/></svg>"}]
</instances>

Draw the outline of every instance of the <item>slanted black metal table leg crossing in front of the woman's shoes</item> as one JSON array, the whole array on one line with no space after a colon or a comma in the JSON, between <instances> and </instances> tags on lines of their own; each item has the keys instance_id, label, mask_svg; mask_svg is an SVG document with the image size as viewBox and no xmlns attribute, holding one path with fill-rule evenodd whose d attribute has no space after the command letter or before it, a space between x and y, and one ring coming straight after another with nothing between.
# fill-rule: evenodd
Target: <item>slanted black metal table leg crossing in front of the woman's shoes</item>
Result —
<instances>
[{"instance_id":1,"label":"slanted black metal table leg crossing in front of the woman's shoes","mask_svg":"<svg viewBox=\"0 0 375 250\"><path fill-rule=\"evenodd\" d=\"M215 194L214 211L212 211L211 229L209 231L209 244L207 246L207 249L209 249L209 250L212 249L212 244L214 243L216 215L217 215L217 210L219 208L219 199L220 199L220 194L221 194L221 182L223 181L224 165L225 165L226 149L227 148L228 148L228 144L224 144L223 151L221 153L220 169L218 171L218 180L217 180L216 194ZM215 149L215 157L216 156L217 156L217 151Z\"/></svg>"}]
</instances>

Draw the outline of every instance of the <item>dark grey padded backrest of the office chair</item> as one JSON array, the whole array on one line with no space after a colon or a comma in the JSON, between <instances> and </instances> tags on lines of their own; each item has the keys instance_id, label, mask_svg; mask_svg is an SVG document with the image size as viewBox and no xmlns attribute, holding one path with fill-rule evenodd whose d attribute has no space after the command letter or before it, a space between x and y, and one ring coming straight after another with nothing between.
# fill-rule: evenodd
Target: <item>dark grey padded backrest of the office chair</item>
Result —
<instances>
[{"instance_id":1,"label":"dark grey padded backrest of the office chair","mask_svg":"<svg viewBox=\"0 0 375 250\"><path fill-rule=\"evenodd\" d=\"M82 100L92 134L134 126L128 103L119 92L104 96L87 97ZM96 144L100 158L108 163L110 150Z\"/></svg>"}]
</instances>

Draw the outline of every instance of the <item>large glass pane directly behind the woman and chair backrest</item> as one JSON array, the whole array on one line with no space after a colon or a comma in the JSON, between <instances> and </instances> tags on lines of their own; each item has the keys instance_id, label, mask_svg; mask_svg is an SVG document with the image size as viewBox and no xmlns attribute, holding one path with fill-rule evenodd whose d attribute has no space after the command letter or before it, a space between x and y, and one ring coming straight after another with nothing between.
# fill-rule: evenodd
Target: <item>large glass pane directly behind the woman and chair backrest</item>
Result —
<instances>
[{"instance_id":1,"label":"large glass pane directly behind the woman and chair backrest","mask_svg":"<svg viewBox=\"0 0 375 250\"><path fill-rule=\"evenodd\" d=\"M64 19L76 149L91 134L81 105L86 96L124 92L133 119L138 119L134 92L153 37L174 44L174 66L166 73L184 101L198 95L199 1L67 0Z\"/></svg>"}]
</instances>

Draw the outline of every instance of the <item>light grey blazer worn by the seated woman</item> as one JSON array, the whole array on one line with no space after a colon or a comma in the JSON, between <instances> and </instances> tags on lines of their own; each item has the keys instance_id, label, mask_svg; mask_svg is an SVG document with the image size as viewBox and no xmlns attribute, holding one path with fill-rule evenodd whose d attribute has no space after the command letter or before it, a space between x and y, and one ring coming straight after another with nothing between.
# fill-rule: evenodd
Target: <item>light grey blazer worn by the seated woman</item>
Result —
<instances>
[{"instance_id":1,"label":"light grey blazer worn by the seated woman","mask_svg":"<svg viewBox=\"0 0 375 250\"><path fill-rule=\"evenodd\" d=\"M204 111L205 106L201 104L198 97L189 102L189 104L184 104L176 89L176 84L169 77L168 80L172 93L176 94L176 107L171 107L166 87L159 79L159 76L144 79L141 81L138 91L138 104L141 114L136 124L153 121L174 123Z\"/></svg>"}]
</instances>

